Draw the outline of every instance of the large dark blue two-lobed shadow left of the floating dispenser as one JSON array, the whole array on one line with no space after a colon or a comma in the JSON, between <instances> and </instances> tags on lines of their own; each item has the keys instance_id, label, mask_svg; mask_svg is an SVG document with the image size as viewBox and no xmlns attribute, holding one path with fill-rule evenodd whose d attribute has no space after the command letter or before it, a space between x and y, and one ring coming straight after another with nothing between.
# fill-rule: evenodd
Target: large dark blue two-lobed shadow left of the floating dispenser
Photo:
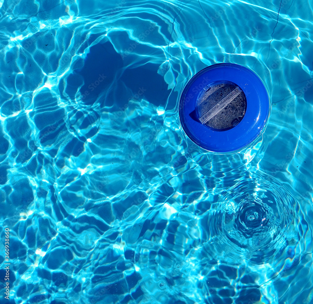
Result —
<instances>
[{"instance_id":1,"label":"large dark blue two-lobed shadow left of the floating dispenser","mask_svg":"<svg viewBox=\"0 0 313 304\"><path fill-rule=\"evenodd\" d=\"M74 98L77 84L80 87L80 100L86 105L98 101L102 106L118 111L127 107L133 99L164 106L169 90L163 77L157 73L159 65L143 63L124 66L121 54L108 41L90 47L85 60L78 61L71 76L68 77L67 93Z\"/></svg>"}]
</instances>

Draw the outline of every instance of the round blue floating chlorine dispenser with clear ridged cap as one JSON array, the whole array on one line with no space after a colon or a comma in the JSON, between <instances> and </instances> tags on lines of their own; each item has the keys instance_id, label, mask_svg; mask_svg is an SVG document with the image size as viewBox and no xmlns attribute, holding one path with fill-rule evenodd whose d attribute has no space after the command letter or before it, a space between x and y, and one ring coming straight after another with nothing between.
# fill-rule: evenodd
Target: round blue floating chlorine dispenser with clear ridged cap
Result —
<instances>
[{"instance_id":1,"label":"round blue floating chlorine dispenser with clear ridged cap","mask_svg":"<svg viewBox=\"0 0 313 304\"><path fill-rule=\"evenodd\" d=\"M252 143L269 118L270 103L261 79L244 66L219 63L185 86L179 117L187 136L203 149L231 152Z\"/></svg>"}]
</instances>

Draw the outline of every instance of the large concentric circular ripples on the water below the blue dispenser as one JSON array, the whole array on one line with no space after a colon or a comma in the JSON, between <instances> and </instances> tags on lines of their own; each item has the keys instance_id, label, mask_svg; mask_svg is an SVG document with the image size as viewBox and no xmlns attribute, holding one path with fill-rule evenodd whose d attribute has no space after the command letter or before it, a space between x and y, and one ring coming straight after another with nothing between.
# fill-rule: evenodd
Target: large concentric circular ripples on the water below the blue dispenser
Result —
<instances>
[{"instance_id":1,"label":"large concentric circular ripples on the water below the blue dispenser","mask_svg":"<svg viewBox=\"0 0 313 304\"><path fill-rule=\"evenodd\" d=\"M212 256L249 259L254 264L284 262L302 231L295 198L267 180L241 181L229 193L208 217L206 248Z\"/></svg>"}]
</instances>

